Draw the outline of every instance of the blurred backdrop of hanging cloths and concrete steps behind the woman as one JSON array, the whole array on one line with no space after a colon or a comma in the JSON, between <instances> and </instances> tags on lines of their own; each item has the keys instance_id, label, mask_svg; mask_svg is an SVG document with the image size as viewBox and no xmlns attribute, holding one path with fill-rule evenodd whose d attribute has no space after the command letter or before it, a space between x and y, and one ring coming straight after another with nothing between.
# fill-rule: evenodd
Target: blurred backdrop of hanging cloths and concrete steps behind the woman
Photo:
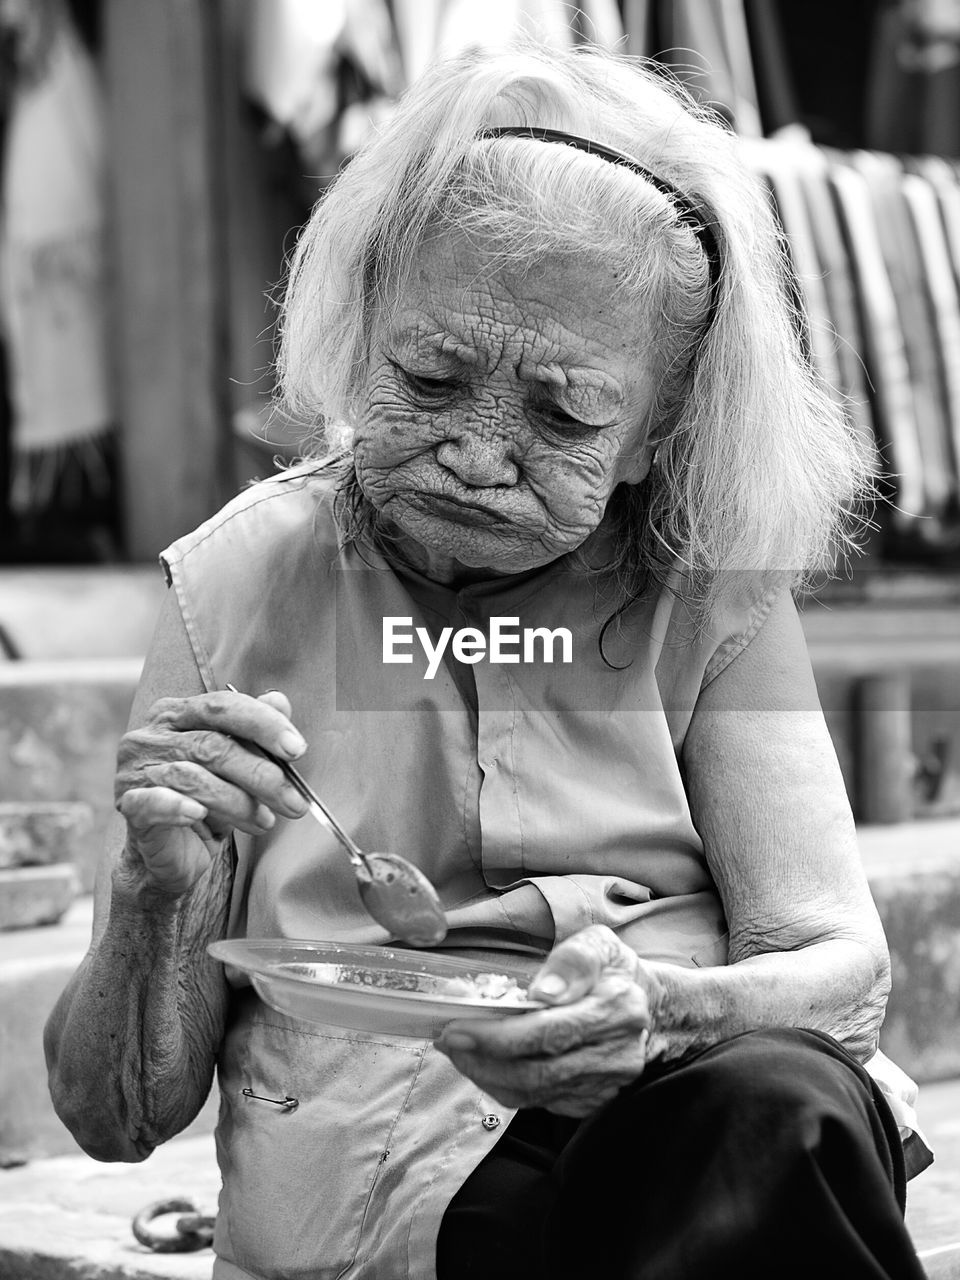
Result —
<instances>
[{"instance_id":1,"label":"blurred backdrop of hanging cloths and concrete steps behind the woman","mask_svg":"<svg viewBox=\"0 0 960 1280\"><path fill-rule=\"evenodd\" d=\"M0 1162L70 1142L31 1037L88 938L157 553L297 454L297 230L430 59L518 31L655 59L741 136L881 451L804 627L900 966L887 1051L960 1075L960 0L0 0L0 977L63 957L0 1000Z\"/></svg>"}]
</instances>

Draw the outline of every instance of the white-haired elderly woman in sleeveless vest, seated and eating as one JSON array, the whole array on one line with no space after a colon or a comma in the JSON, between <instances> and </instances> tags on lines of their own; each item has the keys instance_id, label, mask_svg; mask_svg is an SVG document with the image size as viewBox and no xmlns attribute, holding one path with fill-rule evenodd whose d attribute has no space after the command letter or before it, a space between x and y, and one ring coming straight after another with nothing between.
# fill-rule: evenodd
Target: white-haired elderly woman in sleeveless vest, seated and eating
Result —
<instances>
[{"instance_id":1,"label":"white-haired elderly woman in sleeveless vest, seated and eating","mask_svg":"<svg viewBox=\"0 0 960 1280\"><path fill-rule=\"evenodd\" d=\"M218 1280L922 1275L791 596L869 463L735 148L623 61L465 56L303 233L283 388L340 448L165 552L47 1033L102 1160L183 1129L216 1068ZM228 980L221 937L397 941L259 746L545 1007L431 1044Z\"/></svg>"}]
</instances>

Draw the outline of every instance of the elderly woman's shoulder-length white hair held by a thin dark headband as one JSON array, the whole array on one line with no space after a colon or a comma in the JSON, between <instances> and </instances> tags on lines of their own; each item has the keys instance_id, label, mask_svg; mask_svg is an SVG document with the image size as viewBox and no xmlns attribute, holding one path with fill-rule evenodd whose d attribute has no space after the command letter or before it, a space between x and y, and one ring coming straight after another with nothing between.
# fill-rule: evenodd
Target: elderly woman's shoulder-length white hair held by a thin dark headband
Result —
<instances>
[{"instance_id":1,"label":"elderly woman's shoulder-length white hair held by a thin dark headband","mask_svg":"<svg viewBox=\"0 0 960 1280\"><path fill-rule=\"evenodd\" d=\"M713 310L703 243L668 196L568 146L479 137L497 125L585 136L685 192L719 246ZM547 252L613 265L657 320L657 463L609 507L625 598L680 567L709 609L742 571L799 585L855 547L873 458L803 353L765 189L736 138L662 70L522 46L439 63L404 96L320 201L291 264L280 394L326 447L349 439L374 317L424 241L453 229L515 268Z\"/></svg>"}]
</instances>

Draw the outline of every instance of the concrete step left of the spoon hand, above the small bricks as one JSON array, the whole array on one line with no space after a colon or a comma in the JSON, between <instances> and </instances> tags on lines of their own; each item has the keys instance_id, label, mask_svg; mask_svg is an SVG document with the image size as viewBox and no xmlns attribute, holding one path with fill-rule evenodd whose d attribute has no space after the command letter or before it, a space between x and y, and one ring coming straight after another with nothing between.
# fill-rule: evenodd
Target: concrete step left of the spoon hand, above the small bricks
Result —
<instances>
[{"instance_id":1,"label":"concrete step left of the spoon hand, above the small bricks","mask_svg":"<svg viewBox=\"0 0 960 1280\"><path fill-rule=\"evenodd\" d=\"M116 744L141 658L0 662L0 801L82 801L73 863L86 891L113 817Z\"/></svg>"}]
</instances>

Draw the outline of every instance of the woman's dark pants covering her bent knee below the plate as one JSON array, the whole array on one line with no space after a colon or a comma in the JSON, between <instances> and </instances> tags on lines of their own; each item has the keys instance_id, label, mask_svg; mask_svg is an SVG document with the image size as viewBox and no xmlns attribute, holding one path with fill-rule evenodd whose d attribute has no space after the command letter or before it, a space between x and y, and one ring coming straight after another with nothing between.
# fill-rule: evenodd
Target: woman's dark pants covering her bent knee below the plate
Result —
<instances>
[{"instance_id":1,"label":"woman's dark pants covering her bent knee below the plate","mask_svg":"<svg viewBox=\"0 0 960 1280\"><path fill-rule=\"evenodd\" d=\"M750 1032L577 1124L521 1111L451 1202L438 1280L922 1280L896 1123L818 1032Z\"/></svg>"}]
</instances>

